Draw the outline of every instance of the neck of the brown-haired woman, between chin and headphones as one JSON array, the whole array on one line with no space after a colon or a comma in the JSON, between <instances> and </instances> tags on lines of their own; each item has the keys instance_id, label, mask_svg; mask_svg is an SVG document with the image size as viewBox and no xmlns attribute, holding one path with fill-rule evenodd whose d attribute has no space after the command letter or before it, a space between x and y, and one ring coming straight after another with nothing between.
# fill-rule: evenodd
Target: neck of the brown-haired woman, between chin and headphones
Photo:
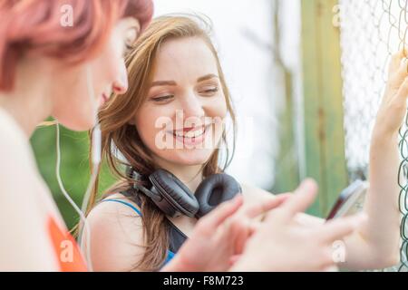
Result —
<instances>
[{"instance_id":1,"label":"neck of the brown-haired woman, between chin and headphones","mask_svg":"<svg viewBox=\"0 0 408 290\"><path fill-rule=\"evenodd\" d=\"M201 164L185 166L170 163L165 160L160 160L158 164L160 165L160 168L170 171L178 179L180 179L181 182L184 183L191 192L196 191L196 189L199 187L199 184L203 179L202 176L203 166Z\"/></svg>"}]
</instances>

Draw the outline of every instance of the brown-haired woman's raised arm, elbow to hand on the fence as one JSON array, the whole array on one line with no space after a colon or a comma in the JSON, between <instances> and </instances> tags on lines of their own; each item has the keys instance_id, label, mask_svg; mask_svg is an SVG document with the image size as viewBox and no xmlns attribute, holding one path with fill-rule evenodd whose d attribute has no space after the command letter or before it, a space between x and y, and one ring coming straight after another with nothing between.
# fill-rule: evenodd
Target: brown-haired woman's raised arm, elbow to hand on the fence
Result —
<instances>
[{"instance_id":1,"label":"brown-haired woman's raised arm, elbow to hand on the fence","mask_svg":"<svg viewBox=\"0 0 408 290\"><path fill-rule=\"evenodd\" d=\"M370 187L364 200L369 220L345 241L348 269L378 269L398 264L401 215L398 131L407 109L408 62L406 52L393 55L389 80L375 120L370 144L368 177Z\"/></svg>"}]
</instances>

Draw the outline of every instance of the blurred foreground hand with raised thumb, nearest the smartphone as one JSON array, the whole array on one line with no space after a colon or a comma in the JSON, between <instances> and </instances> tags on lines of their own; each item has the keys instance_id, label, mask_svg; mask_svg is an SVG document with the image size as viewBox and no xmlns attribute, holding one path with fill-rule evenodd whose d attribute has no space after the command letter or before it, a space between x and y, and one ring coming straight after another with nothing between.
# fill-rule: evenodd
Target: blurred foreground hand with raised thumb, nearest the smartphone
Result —
<instances>
[{"instance_id":1,"label":"blurred foreground hand with raised thumb, nearest the smartphone","mask_svg":"<svg viewBox=\"0 0 408 290\"><path fill-rule=\"evenodd\" d=\"M296 214L316 198L314 181L305 181L282 206L271 210L252 237L232 271L325 271L335 268L334 245L361 226L364 216L339 218L305 227ZM344 251L344 248L336 248ZM346 253L340 253L346 254ZM340 256L340 255L339 255ZM341 255L343 256L343 255Z\"/></svg>"}]
</instances>

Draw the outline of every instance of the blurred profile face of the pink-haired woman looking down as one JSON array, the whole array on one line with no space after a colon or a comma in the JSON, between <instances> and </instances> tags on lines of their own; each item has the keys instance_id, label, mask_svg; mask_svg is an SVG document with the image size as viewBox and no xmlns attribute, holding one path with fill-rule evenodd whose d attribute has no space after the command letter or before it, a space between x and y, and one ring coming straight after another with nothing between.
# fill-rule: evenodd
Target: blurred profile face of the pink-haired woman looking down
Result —
<instances>
[{"instance_id":1,"label":"blurred profile face of the pink-haired woman looking down","mask_svg":"<svg viewBox=\"0 0 408 290\"><path fill-rule=\"evenodd\" d=\"M121 94L128 90L124 54L140 29L135 18L121 19L96 58L59 70L53 78L53 117L75 131L92 128L98 108L112 92Z\"/></svg>"}]
</instances>

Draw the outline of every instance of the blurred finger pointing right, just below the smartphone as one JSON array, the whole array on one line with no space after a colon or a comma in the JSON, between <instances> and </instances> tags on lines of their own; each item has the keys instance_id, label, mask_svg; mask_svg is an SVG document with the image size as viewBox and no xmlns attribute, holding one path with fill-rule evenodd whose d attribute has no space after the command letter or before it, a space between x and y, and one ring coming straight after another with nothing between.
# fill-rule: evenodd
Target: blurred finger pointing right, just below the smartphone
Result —
<instances>
[{"instance_id":1,"label":"blurred finger pointing right, just below the smartphone","mask_svg":"<svg viewBox=\"0 0 408 290\"><path fill-rule=\"evenodd\" d=\"M348 218L338 218L327 222L323 226L323 229L317 229L316 235L319 235L323 242L332 243L352 234L355 229L361 227L366 220L367 217L364 214Z\"/></svg>"}]
</instances>

